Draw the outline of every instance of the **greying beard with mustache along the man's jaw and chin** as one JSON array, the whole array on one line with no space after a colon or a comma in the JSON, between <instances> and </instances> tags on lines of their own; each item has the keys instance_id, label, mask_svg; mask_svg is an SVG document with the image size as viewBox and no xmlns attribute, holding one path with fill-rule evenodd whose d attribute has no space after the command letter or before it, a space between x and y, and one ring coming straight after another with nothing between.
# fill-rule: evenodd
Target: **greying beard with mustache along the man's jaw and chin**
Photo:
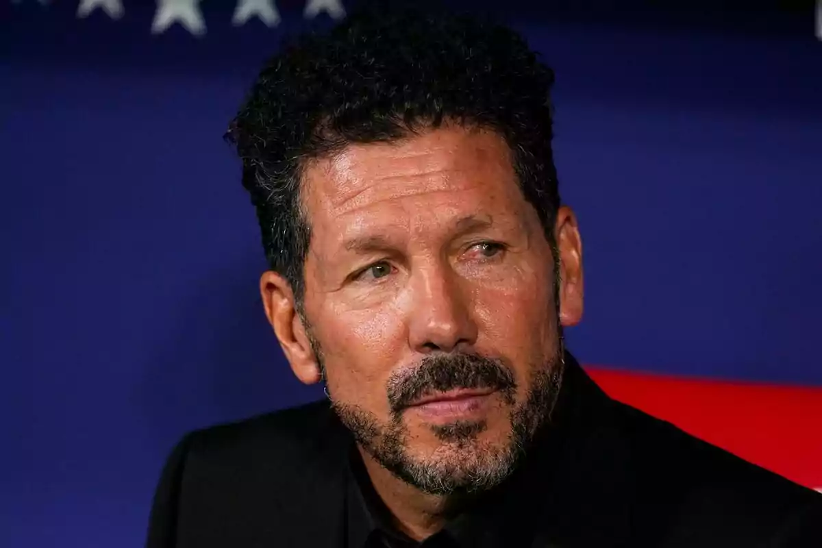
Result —
<instances>
[{"instance_id":1,"label":"greying beard with mustache along the man's jaw and chin","mask_svg":"<svg viewBox=\"0 0 822 548\"><path fill-rule=\"evenodd\" d=\"M356 404L338 401L333 394L329 398L358 444L395 477L430 495L478 493L510 477L540 426L549 420L564 369L562 345L558 348L556 357L533 368L528 394L521 403L515 402L517 384L510 366L474 354L424 357L413 369L392 375L387 384L388 421L378 420ZM316 356L322 367L321 353ZM425 394L453 389L496 390L510 410L506 439L480 440L487 429L485 421L455 421L431 426L441 445L425 458L414 456L403 421L404 408Z\"/></svg>"}]
</instances>

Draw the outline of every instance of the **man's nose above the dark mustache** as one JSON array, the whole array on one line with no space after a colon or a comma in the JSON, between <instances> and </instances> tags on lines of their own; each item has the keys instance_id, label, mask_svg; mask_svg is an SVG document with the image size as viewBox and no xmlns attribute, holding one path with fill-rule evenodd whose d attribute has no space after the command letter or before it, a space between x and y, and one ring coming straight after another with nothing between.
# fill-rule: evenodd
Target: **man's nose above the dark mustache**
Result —
<instances>
[{"instance_id":1,"label":"man's nose above the dark mustache","mask_svg":"<svg viewBox=\"0 0 822 548\"><path fill-rule=\"evenodd\" d=\"M447 269L418 273L413 283L409 343L417 352L454 352L477 342L469 296Z\"/></svg>"}]
</instances>

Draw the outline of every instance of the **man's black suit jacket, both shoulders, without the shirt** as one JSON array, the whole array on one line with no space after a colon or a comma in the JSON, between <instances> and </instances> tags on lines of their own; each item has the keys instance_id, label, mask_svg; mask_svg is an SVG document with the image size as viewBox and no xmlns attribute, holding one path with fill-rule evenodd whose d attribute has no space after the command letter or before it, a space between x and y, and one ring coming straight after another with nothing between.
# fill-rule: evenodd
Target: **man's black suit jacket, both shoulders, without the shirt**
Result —
<instances>
[{"instance_id":1,"label":"man's black suit jacket, both shoulders, without the shirt","mask_svg":"<svg viewBox=\"0 0 822 548\"><path fill-rule=\"evenodd\" d=\"M822 548L822 495L617 403L570 357L555 419L534 548ZM148 548L344 546L352 444L326 401L185 436Z\"/></svg>"}]
</instances>

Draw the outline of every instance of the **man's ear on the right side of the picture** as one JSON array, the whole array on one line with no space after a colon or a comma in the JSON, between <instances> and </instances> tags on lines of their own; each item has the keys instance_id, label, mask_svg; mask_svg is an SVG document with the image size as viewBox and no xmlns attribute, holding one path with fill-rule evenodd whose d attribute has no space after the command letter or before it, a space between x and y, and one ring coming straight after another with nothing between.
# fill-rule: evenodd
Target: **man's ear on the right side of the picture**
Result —
<instances>
[{"instance_id":1,"label":"man's ear on the right side of the picture","mask_svg":"<svg viewBox=\"0 0 822 548\"><path fill-rule=\"evenodd\" d=\"M560 323L577 325L582 320L583 277L582 238L576 215L562 206L556 214L554 230L560 255Z\"/></svg>"}]
</instances>

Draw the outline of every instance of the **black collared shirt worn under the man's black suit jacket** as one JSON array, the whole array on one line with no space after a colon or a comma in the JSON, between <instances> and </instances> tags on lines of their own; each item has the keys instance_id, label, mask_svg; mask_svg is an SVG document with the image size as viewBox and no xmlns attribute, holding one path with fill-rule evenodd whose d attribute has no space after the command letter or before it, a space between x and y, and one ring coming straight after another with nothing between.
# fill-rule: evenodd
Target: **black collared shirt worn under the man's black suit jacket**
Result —
<instances>
[{"instance_id":1,"label":"black collared shirt worn under the man's black suit jacket","mask_svg":"<svg viewBox=\"0 0 822 548\"><path fill-rule=\"evenodd\" d=\"M554 432L556 434L556 432ZM502 486L484 494L440 532L418 542L392 525L390 511L352 449L346 489L347 548L527 548L538 531L556 435L538 436L526 463Z\"/></svg>"}]
</instances>

